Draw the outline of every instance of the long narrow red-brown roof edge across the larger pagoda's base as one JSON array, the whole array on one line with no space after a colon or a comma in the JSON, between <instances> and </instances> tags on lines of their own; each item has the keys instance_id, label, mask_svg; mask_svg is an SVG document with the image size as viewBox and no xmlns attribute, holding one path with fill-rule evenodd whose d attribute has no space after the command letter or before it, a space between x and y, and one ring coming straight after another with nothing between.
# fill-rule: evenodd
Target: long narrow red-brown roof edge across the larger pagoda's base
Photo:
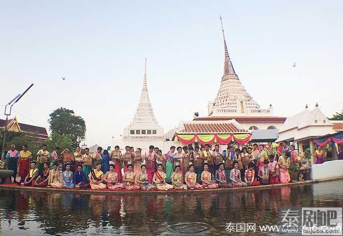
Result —
<instances>
[{"instance_id":1,"label":"long narrow red-brown roof edge across the larger pagoda's base","mask_svg":"<svg viewBox=\"0 0 343 236\"><path fill-rule=\"evenodd\" d=\"M285 122L285 117L196 117L193 120L230 120L235 119L237 122Z\"/></svg>"}]
</instances>

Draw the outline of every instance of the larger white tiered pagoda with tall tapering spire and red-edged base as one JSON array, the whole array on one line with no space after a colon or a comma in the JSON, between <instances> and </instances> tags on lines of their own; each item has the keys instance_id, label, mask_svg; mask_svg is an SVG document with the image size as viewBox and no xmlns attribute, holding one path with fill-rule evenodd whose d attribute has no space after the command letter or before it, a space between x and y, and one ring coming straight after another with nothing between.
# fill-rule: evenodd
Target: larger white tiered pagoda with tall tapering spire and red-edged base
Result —
<instances>
[{"instance_id":1,"label":"larger white tiered pagoda with tall tapering spire and red-edged base","mask_svg":"<svg viewBox=\"0 0 343 236\"><path fill-rule=\"evenodd\" d=\"M245 87L233 69L226 46L222 22L221 31L224 41L224 72L221 77L221 86L215 100L208 102L208 117L195 117L194 120L236 119L247 129L280 128L286 118L274 117L271 104L269 108L262 109L250 94L246 92Z\"/></svg>"}]
</instances>

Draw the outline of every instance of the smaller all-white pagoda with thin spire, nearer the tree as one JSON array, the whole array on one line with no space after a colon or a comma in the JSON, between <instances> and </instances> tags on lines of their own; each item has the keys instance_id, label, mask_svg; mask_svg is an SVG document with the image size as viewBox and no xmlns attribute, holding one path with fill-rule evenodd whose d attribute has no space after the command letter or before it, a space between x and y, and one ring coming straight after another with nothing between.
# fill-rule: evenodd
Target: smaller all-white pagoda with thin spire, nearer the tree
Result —
<instances>
[{"instance_id":1,"label":"smaller all-white pagoda with thin spire, nearer the tree","mask_svg":"<svg viewBox=\"0 0 343 236\"><path fill-rule=\"evenodd\" d=\"M136 113L130 124L124 128L124 146L142 148L144 151L149 145L163 148L165 141L164 129L158 124L152 110L152 106L147 92L147 59L144 67L143 88ZM143 151L142 151L143 153Z\"/></svg>"}]
</instances>

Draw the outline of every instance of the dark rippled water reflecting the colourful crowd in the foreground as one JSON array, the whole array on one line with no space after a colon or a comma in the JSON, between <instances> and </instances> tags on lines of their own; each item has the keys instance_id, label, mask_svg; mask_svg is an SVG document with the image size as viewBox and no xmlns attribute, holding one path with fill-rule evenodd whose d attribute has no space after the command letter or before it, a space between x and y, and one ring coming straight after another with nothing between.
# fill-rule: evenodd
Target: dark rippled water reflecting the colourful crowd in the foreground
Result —
<instances>
[{"instance_id":1,"label":"dark rippled water reflecting the colourful crowd in the foreground","mask_svg":"<svg viewBox=\"0 0 343 236\"><path fill-rule=\"evenodd\" d=\"M0 190L0 234L228 235L225 224L230 221L277 224L280 207L342 207L342 186L340 180L292 188L145 196Z\"/></svg>"}]
</instances>

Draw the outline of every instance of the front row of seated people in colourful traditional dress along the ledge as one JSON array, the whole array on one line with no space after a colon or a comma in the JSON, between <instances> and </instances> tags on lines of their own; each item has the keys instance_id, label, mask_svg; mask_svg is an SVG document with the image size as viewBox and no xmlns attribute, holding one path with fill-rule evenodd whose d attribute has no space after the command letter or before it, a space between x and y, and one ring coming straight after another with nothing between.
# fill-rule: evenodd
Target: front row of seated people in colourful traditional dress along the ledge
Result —
<instances>
[{"instance_id":1,"label":"front row of seated people in colourful traditional dress along the ledge","mask_svg":"<svg viewBox=\"0 0 343 236\"><path fill-rule=\"evenodd\" d=\"M71 165L66 165L66 170L62 172L63 183L60 182L60 171L58 163L53 164L53 169L49 169L48 163L44 164L43 173L39 174L36 163L31 163L31 169L25 178L25 186L52 187L52 188L76 188L76 189L217 189L217 188L232 188L243 186L257 186L260 184L269 184L269 169L267 167L268 160L265 160L264 165L260 168L258 177L260 181L255 180L254 164L249 163L249 168L245 171L245 182L242 181L241 171L238 169L237 161L233 162L234 168L230 171L230 183L226 181L226 173L224 163L219 164L219 169L212 178L212 173L209 172L207 162L203 165L201 173L201 184L196 182L197 174L195 173L194 165L190 163L185 176L180 171L180 165L176 164L172 173L171 184L166 183L167 175L163 172L163 165L158 164L158 169L154 173L152 182L148 181L146 173L146 165L141 165L139 173L133 171L133 165L127 164L127 169L123 175L122 183L118 181L118 174L114 171L115 165L110 165L110 170L105 174L101 171L101 164L98 164L95 169L92 169L88 176L82 171L82 165L77 166L77 170L73 173L70 170Z\"/></svg>"}]
</instances>

